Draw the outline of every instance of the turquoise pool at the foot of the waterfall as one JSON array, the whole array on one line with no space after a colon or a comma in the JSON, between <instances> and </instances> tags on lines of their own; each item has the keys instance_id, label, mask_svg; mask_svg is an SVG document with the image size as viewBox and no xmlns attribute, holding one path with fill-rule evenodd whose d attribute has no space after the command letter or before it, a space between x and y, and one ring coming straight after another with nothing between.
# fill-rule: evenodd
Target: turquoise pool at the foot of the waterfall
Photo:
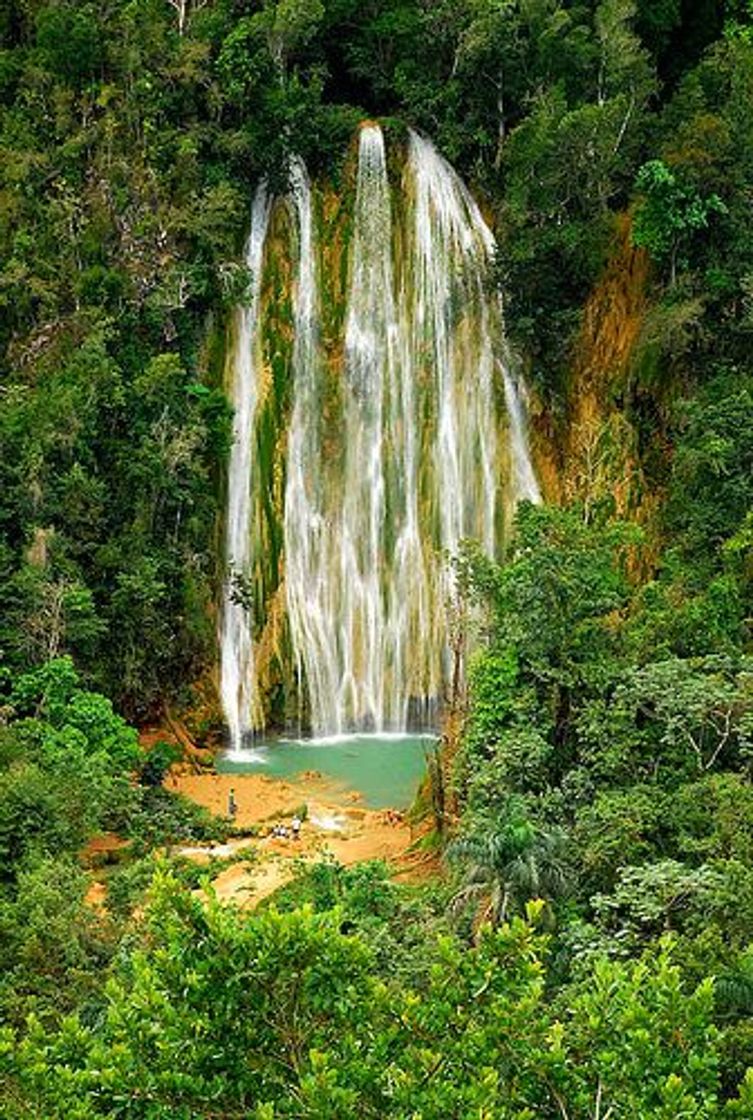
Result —
<instances>
[{"instance_id":1,"label":"turquoise pool at the foot of the waterfall","mask_svg":"<svg viewBox=\"0 0 753 1120\"><path fill-rule=\"evenodd\" d=\"M426 772L434 735L348 735L324 739L257 740L217 758L221 774L294 778L317 771L342 793L357 790L370 809L408 809Z\"/></svg>"}]
</instances>

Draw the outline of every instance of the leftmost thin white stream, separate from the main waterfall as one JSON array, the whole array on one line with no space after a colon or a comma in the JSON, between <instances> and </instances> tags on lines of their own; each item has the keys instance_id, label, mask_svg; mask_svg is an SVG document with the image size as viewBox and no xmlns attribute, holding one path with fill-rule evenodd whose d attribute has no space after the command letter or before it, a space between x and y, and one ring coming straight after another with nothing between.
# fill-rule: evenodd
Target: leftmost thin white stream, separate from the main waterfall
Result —
<instances>
[{"instance_id":1,"label":"leftmost thin white stream, separate from the main waterfall","mask_svg":"<svg viewBox=\"0 0 753 1120\"><path fill-rule=\"evenodd\" d=\"M252 726L253 635L248 603L251 570L251 472L253 419L257 405L255 367L259 349L261 270L269 225L270 199L262 183L251 208L245 252L250 273L248 302L238 309L232 349L233 442L227 468L225 526L226 576L220 632L220 694L231 750L240 750Z\"/></svg>"}]
</instances>

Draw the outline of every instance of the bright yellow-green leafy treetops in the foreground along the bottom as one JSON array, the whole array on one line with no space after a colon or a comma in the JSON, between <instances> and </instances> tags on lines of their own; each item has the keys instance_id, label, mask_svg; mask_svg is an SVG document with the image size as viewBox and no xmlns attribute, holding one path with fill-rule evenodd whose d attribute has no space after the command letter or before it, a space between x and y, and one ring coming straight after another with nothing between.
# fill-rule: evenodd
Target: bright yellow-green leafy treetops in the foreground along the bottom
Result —
<instances>
[{"instance_id":1,"label":"bright yellow-green leafy treetops in the foreground along the bottom","mask_svg":"<svg viewBox=\"0 0 753 1120\"><path fill-rule=\"evenodd\" d=\"M666 949L603 960L552 1001L546 939L520 920L473 949L445 939L418 987L374 974L338 921L248 918L158 880L104 1021L0 1045L7 1114L710 1120L753 1103L749 1080L721 1105L712 986L684 991Z\"/></svg>"}]
</instances>

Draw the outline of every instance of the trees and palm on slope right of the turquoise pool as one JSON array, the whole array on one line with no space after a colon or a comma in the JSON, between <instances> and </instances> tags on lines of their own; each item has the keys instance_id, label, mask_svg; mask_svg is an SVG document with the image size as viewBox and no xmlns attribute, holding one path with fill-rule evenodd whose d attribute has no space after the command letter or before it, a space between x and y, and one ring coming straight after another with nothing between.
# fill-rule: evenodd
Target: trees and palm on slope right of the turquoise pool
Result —
<instances>
[{"instance_id":1,"label":"trees and palm on slope right of the turquoise pool","mask_svg":"<svg viewBox=\"0 0 753 1120\"><path fill-rule=\"evenodd\" d=\"M639 531L577 508L522 507L501 567L466 553L487 645L472 666L449 853L459 912L499 922L547 900L558 982L671 932L687 983L718 978L732 1084L753 1064L751 601L743 567L726 564L747 519L729 517L715 556L708 532L694 553L696 438L677 459L685 517L668 530L681 586L675 560L635 586Z\"/></svg>"}]
</instances>

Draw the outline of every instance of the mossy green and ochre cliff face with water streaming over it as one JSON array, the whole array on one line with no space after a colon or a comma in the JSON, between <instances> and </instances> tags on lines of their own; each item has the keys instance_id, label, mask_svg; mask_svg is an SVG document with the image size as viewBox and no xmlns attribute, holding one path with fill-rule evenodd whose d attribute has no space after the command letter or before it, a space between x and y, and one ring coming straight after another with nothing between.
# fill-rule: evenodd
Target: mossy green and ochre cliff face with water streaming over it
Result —
<instances>
[{"instance_id":1,"label":"mossy green and ochre cliff face with water streaming over it","mask_svg":"<svg viewBox=\"0 0 753 1120\"><path fill-rule=\"evenodd\" d=\"M337 185L294 165L271 204L257 342L236 317L229 348L236 416L253 413L229 486L248 550L226 535L223 619L241 609L252 640L245 668L223 646L231 728L436 722L447 554L465 538L494 553L517 500L538 500L492 253L433 146L370 123Z\"/></svg>"}]
</instances>

